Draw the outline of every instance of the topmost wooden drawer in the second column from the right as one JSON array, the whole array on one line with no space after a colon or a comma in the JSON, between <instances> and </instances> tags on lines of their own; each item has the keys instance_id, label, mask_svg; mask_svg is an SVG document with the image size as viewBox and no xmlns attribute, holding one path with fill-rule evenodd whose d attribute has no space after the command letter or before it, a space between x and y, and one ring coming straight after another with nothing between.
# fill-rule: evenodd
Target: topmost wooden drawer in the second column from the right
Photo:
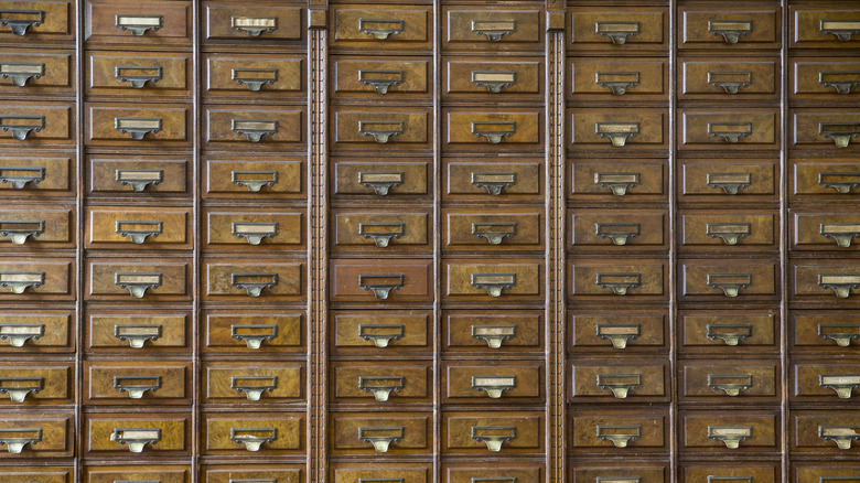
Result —
<instances>
[{"instance_id":1,"label":"topmost wooden drawer in the second column from the right","mask_svg":"<svg viewBox=\"0 0 860 483\"><path fill-rule=\"evenodd\" d=\"M679 49L777 49L782 39L778 8L706 10L678 9Z\"/></svg>"}]
</instances>

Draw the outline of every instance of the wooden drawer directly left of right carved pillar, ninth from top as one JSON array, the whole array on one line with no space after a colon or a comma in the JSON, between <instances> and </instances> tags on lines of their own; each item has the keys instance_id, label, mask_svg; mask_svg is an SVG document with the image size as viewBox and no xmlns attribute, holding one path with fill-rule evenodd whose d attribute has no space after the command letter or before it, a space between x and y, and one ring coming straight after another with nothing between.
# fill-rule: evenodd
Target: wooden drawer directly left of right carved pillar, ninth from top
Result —
<instances>
[{"instance_id":1,"label":"wooden drawer directly left of right carved pillar, ninth from top","mask_svg":"<svg viewBox=\"0 0 860 483\"><path fill-rule=\"evenodd\" d=\"M442 415L445 454L534 454L544 451L544 414L506 411Z\"/></svg>"}]
</instances>

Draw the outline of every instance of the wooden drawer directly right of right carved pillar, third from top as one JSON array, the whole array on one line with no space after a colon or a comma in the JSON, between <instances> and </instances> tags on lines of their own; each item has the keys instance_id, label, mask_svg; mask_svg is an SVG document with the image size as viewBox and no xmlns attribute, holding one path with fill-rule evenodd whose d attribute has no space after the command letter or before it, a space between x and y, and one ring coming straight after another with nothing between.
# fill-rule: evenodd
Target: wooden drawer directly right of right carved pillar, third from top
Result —
<instances>
[{"instance_id":1,"label":"wooden drawer directly right of right carved pillar, third from top","mask_svg":"<svg viewBox=\"0 0 860 483\"><path fill-rule=\"evenodd\" d=\"M568 109L569 149L666 149L666 109Z\"/></svg>"}]
</instances>

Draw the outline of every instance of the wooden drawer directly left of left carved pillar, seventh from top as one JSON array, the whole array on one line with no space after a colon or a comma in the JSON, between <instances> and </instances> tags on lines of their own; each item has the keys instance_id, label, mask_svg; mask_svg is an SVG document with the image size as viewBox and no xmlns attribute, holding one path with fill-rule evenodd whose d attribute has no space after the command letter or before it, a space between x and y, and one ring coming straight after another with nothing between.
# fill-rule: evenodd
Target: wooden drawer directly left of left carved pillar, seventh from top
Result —
<instances>
[{"instance_id":1,"label":"wooden drawer directly left of left carved pillar, seventh from top","mask_svg":"<svg viewBox=\"0 0 860 483\"><path fill-rule=\"evenodd\" d=\"M205 352L294 353L304 345L301 313L243 310L205 316Z\"/></svg>"}]
</instances>

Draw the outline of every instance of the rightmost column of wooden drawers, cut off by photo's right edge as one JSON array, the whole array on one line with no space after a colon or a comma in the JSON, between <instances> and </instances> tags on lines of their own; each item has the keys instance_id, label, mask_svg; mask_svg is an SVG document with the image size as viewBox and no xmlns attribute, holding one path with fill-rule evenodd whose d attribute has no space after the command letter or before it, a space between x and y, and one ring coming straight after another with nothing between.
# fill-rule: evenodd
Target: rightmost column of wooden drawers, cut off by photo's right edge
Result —
<instances>
[{"instance_id":1,"label":"rightmost column of wooden drawers, cut off by photo's right edge","mask_svg":"<svg viewBox=\"0 0 860 483\"><path fill-rule=\"evenodd\" d=\"M860 469L860 12L789 2L791 480Z\"/></svg>"}]
</instances>

